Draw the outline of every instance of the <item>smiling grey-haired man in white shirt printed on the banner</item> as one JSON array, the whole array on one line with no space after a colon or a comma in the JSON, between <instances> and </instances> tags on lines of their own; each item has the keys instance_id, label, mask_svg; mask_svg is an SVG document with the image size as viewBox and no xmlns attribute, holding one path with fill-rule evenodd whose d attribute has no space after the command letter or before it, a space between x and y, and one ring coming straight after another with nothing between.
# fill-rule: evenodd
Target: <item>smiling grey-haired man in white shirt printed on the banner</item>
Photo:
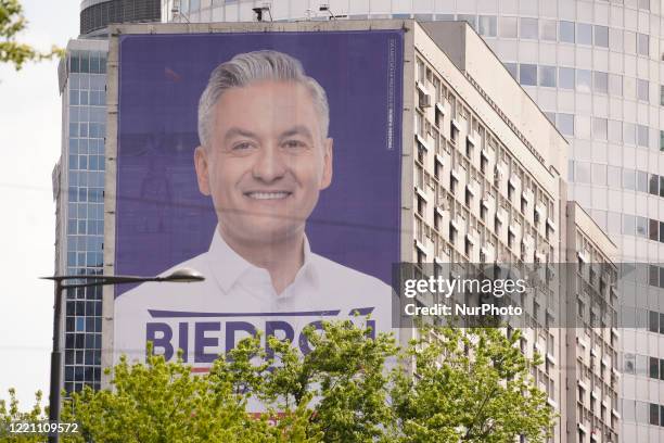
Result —
<instances>
[{"instance_id":1,"label":"smiling grey-haired man in white shirt printed on the banner","mask_svg":"<svg viewBox=\"0 0 664 443\"><path fill-rule=\"evenodd\" d=\"M218 225L207 252L173 268L206 280L143 283L120 295L116 356L141 358L152 341L167 358L182 349L204 370L257 330L306 353L302 329L323 319L370 315L374 330L391 329L390 286L312 253L305 235L332 182L328 127L324 90L288 54L243 53L213 71L199 104L194 166Z\"/></svg>"}]
</instances>

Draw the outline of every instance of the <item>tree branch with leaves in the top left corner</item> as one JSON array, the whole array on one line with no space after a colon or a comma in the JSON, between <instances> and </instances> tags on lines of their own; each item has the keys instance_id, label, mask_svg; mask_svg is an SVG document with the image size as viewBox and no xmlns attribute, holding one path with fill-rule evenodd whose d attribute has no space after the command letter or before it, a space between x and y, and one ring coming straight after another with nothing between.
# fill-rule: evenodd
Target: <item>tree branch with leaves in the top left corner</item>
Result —
<instances>
[{"instance_id":1,"label":"tree branch with leaves in the top left corner","mask_svg":"<svg viewBox=\"0 0 664 443\"><path fill-rule=\"evenodd\" d=\"M50 60L64 54L64 51L56 47L52 47L50 52L40 52L29 45L16 41L16 36L26 26L27 21L18 0L0 0L0 63L12 63L18 71L25 62Z\"/></svg>"}]
</instances>

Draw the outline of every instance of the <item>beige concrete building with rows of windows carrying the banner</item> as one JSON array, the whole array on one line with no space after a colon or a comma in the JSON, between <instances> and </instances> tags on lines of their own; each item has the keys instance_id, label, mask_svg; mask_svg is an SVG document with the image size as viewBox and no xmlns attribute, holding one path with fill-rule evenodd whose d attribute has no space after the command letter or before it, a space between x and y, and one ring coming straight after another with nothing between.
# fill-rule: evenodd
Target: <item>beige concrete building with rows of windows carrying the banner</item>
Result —
<instances>
[{"instance_id":1,"label":"beige concrete building with rows of windows carrying the banner","mask_svg":"<svg viewBox=\"0 0 664 443\"><path fill-rule=\"evenodd\" d=\"M404 84L397 88L404 90L401 261L416 267L498 262L546 268L547 286L541 290L547 292L536 289L521 300L527 309L520 346L527 356L538 353L544 357L541 365L532 368L532 375L547 393L549 405L560 414L551 442L618 441L617 334L611 328L601 333L590 328L567 328L571 324L565 312L572 308L571 316L576 318L577 299L589 307L597 299L606 301L604 314L615 314L611 282L617 274L612 262L616 248L578 204L569 202L569 147L563 136L465 23L166 24L122 26L114 38L135 34L369 29L406 29ZM117 41L113 45L110 63L116 66ZM153 72L163 69L159 66ZM168 78L180 78L173 69L164 72ZM111 115L120 112L118 78L114 67L108 76ZM117 155L117 130L113 128L106 145L106 155L112 159ZM179 151L186 149L191 147L180 147ZM116 183L122 166L113 164L106 182ZM167 176L161 178L169 180ZM110 192L105 197L110 208L115 208L113 195ZM115 214L113 210L106 215L110 224L115 224ZM106 242L116 244L115 231L104 233ZM117 266L114 257L113 250L105 251L108 271ZM584 257L583 263L579 257ZM561 262L574 264L571 281L556 278L553 268ZM588 293L577 283L597 290ZM574 294L570 305L565 304L569 298L550 296L561 293L560 286L565 287L564 293ZM113 296L112 289L104 291L104 317L111 319L104 321L106 343L113 333ZM599 320L591 320L591 315L593 311L588 308L578 318L597 325ZM570 350L574 342L577 347Z\"/></svg>"}]
</instances>

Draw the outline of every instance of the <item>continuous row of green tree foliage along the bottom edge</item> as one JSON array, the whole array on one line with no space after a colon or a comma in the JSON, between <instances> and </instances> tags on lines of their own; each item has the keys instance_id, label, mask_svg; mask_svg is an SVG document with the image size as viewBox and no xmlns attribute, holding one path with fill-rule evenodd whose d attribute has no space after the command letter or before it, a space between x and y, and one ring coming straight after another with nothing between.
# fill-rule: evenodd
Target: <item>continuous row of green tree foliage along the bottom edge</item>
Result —
<instances>
[{"instance_id":1,"label":"continuous row of green tree foliage along the bottom edge","mask_svg":"<svg viewBox=\"0 0 664 443\"><path fill-rule=\"evenodd\" d=\"M420 329L405 350L350 321L304 334L304 357L289 342L255 337L207 374L151 349L145 364L122 358L112 389L86 388L65 403L62 421L82 432L61 440L537 443L554 423L531 380L540 359L521 353L518 331ZM261 414L248 413L257 405Z\"/></svg>"}]
</instances>

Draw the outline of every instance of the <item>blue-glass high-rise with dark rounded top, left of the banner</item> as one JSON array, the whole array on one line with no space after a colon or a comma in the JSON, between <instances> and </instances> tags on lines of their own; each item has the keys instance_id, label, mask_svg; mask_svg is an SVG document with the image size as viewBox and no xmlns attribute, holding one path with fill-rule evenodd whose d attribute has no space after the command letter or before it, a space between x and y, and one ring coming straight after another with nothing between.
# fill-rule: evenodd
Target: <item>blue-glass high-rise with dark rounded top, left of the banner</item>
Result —
<instances>
[{"instance_id":1,"label":"blue-glass high-rise with dark rounded top, left of the banner","mask_svg":"<svg viewBox=\"0 0 664 443\"><path fill-rule=\"evenodd\" d=\"M55 274L102 274L104 138L110 23L159 21L157 0L84 0L80 36L59 66L62 154L53 169L56 202ZM62 308L63 389L100 387L101 288L67 291Z\"/></svg>"}]
</instances>

